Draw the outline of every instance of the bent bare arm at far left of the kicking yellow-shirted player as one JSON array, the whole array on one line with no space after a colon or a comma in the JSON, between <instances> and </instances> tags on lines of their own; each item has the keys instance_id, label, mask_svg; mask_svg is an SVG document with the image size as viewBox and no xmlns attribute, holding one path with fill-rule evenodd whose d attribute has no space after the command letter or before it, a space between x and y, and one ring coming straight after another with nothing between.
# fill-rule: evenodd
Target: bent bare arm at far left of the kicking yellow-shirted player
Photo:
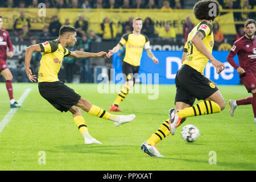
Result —
<instances>
[{"instance_id":1,"label":"bent bare arm at far left of the kicking yellow-shirted player","mask_svg":"<svg viewBox=\"0 0 256 182\"><path fill-rule=\"evenodd\" d=\"M25 71L27 74L28 79L33 82L36 81L36 76L32 75L31 69L30 69L30 61L32 57L33 52L41 52L41 48L39 44L32 45L30 47L26 48L26 54L25 54Z\"/></svg>"}]
</instances>

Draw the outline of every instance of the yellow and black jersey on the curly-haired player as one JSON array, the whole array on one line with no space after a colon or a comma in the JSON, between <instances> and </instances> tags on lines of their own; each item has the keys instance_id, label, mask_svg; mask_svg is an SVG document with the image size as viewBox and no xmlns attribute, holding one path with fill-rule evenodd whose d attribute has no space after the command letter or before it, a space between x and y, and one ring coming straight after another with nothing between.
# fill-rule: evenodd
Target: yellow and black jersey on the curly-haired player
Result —
<instances>
[{"instance_id":1,"label":"yellow and black jersey on the curly-haired player","mask_svg":"<svg viewBox=\"0 0 256 182\"><path fill-rule=\"evenodd\" d=\"M192 31L188 34L188 39L184 46L184 52L187 52L187 57L183 64L187 64L203 74L205 65L207 65L209 60L191 42L191 39L197 31L203 33L204 39L202 41L208 51L212 53L212 48L214 44L212 25L204 21L197 24L197 26L194 27Z\"/></svg>"}]
</instances>

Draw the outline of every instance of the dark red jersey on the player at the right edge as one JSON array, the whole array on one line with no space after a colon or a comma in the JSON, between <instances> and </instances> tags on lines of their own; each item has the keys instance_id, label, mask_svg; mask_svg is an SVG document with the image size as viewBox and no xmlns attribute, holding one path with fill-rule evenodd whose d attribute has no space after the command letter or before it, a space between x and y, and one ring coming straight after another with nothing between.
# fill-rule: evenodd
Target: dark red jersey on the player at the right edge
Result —
<instances>
[{"instance_id":1,"label":"dark red jersey on the player at the right edge","mask_svg":"<svg viewBox=\"0 0 256 182\"><path fill-rule=\"evenodd\" d=\"M246 36L242 36L240 39L234 42L232 49L229 52L227 60L234 67L239 66L234 63L233 57L237 55L239 65L247 73L256 74L256 38L247 39Z\"/></svg>"}]
</instances>

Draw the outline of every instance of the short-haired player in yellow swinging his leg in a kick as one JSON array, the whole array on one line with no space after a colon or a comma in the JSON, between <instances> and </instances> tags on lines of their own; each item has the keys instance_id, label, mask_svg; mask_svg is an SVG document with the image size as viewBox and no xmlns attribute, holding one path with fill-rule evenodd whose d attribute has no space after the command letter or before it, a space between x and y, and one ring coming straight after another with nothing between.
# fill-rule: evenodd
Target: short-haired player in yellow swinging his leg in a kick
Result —
<instances>
[{"instance_id":1,"label":"short-haired player in yellow swinging his leg in a kick","mask_svg":"<svg viewBox=\"0 0 256 182\"><path fill-rule=\"evenodd\" d=\"M124 123L133 121L135 115L110 114L104 109L90 104L79 94L77 94L75 90L69 88L68 86L64 85L63 82L59 81L57 73L60 71L64 56L68 56L73 59L86 57L109 57L108 53L103 51L98 53L68 51L68 49L65 47L73 47L76 43L76 31L76 28L63 26L60 28L59 39L28 47L26 49L25 56L25 69L28 79L31 82L36 81L36 77L35 75L32 75L30 69L31 56L33 52L43 52L38 70L39 93L57 110L60 110L61 112L70 111L73 114L73 119L76 126L79 128L80 133L84 137L85 144L101 144L101 142L92 138L88 133L88 128L86 126L84 117L82 117L80 108L90 115L113 121L115 126L120 126Z\"/></svg>"}]
</instances>

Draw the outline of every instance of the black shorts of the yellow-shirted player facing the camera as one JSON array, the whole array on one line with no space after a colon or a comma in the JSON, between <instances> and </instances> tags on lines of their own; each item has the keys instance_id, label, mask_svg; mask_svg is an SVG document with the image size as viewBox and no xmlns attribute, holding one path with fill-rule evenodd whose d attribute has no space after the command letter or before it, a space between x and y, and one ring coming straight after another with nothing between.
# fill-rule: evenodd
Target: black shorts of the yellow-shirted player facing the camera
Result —
<instances>
[{"instance_id":1,"label":"black shorts of the yellow-shirted player facing the camera","mask_svg":"<svg viewBox=\"0 0 256 182\"><path fill-rule=\"evenodd\" d=\"M123 61L122 71L125 81L133 80L133 84L135 84L136 77L138 76L139 73L139 66L135 67L134 65L131 65Z\"/></svg>"}]
</instances>

